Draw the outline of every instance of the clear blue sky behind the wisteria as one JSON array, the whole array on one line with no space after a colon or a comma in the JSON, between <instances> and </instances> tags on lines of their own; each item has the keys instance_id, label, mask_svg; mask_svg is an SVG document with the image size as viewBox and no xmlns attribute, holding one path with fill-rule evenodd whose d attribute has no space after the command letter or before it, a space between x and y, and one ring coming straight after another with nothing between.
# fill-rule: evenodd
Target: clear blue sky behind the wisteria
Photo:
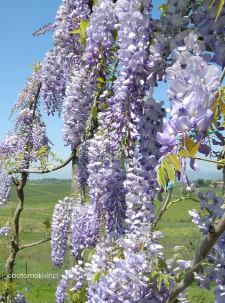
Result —
<instances>
[{"instance_id":1,"label":"clear blue sky behind the wisteria","mask_svg":"<svg viewBox=\"0 0 225 303\"><path fill-rule=\"evenodd\" d=\"M152 3L153 6L155 4L152 17L159 17L160 11L156 8L165 1L153 0ZM32 36L32 33L42 25L54 22L55 12L60 4L61 0L1 2L0 141L7 130L13 128L13 122L8 121L8 117L18 93L26 83L26 76L31 75L31 68L28 65L33 63L34 59L42 61L45 53L52 46L52 32L39 36ZM165 107L168 107L167 85L167 83L161 83L153 94L156 100L165 101ZM43 119L46 121L48 137L54 144L52 150L58 157L66 159L70 154L70 148L64 147L61 139L62 119L57 118L57 115L55 117L45 115ZM207 167L207 170L211 167ZM205 164L202 164L202 169L204 168ZM40 176L42 175L36 175L35 178ZM70 178L70 166L61 170L60 173L50 173L46 177Z\"/></svg>"}]
</instances>

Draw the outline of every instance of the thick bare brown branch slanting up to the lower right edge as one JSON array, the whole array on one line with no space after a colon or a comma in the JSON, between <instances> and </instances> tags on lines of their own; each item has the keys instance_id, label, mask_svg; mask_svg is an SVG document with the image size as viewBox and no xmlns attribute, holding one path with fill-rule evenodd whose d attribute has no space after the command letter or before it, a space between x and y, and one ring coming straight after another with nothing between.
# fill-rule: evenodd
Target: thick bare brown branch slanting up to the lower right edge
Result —
<instances>
[{"instance_id":1,"label":"thick bare brown branch slanting up to the lower right edge","mask_svg":"<svg viewBox=\"0 0 225 303\"><path fill-rule=\"evenodd\" d=\"M220 221L214 226L212 232L208 233L207 236L203 239L192 261L192 268L186 272L185 276L183 277L183 280L177 283L170 291L166 303L174 302L177 296L193 282L194 273L198 273L201 262L207 257L215 242L218 240L218 238L224 231L225 215L223 215Z\"/></svg>"}]
</instances>

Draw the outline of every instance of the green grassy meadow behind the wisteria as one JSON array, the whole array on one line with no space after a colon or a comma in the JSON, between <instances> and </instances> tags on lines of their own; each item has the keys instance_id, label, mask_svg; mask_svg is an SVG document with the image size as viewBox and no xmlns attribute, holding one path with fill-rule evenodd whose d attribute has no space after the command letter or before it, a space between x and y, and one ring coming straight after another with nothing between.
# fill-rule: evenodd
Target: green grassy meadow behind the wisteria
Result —
<instances>
[{"instance_id":1,"label":"green grassy meadow behind the wisteria","mask_svg":"<svg viewBox=\"0 0 225 303\"><path fill-rule=\"evenodd\" d=\"M181 196L180 184L176 184L173 189L172 201L179 199ZM199 188L204 192L210 188ZM184 191L184 189L183 189ZM215 189L217 195L221 189ZM51 218L54 205L58 200L62 200L70 193L70 184L27 184L24 189L24 208L20 215L20 242L29 244L43 239L47 233L43 222ZM183 195L185 192L183 192ZM156 201L156 208L160 202ZM8 202L7 208L0 208L0 223L12 218L17 206L16 188L12 188L11 201ZM163 217L157 224L156 230L163 232L163 238L159 243L164 247L165 259L174 255L175 246L185 246L186 250L179 253L186 260L192 260L196 247L202 238L198 228L191 223L188 210L197 208L197 203L186 200L171 205L164 213ZM51 262L50 243L45 242L38 246L25 248L18 252L14 265L14 274L25 274L25 262L27 262L28 274L52 274L55 278L28 279L28 288L25 298L27 303L53 303L55 300L55 290L60 280L60 275L65 269L68 269L68 261L65 262L61 269L54 268ZM0 250L0 275L4 272L3 259L7 258L8 250ZM16 279L17 289L23 292L26 281L25 279ZM212 291L200 290L196 283L188 289L190 303L211 303L213 302Z\"/></svg>"}]
</instances>

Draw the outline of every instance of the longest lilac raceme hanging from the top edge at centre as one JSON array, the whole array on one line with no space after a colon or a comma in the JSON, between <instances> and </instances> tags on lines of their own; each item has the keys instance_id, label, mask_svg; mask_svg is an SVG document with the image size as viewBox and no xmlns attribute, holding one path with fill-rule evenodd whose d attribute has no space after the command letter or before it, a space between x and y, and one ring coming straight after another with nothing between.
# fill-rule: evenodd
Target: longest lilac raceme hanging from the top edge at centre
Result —
<instances>
[{"instance_id":1,"label":"longest lilac raceme hanging from the top edge at centre","mask_svg":"<svg viewBox=\"0 0 225 303\"><path fill-rule=\"evenodd\" d=\"M138 1L120 1L115 4L114 13L118 18L117 29L119 46L118 59L122 67L118 70L118 77L114 82L113 97L108 99L109 108L106 119L111 132L112 148L118 151L123 139L127 141L124 153L128 156L128 149L132 152L133 142L138 132L136 124L136 110L145 92L150 86L155 85L155 80L149 78L155 59L148 56L150 35L150 16L148 10L150 1L143 5L143 11L138 11ZM143 106L143 105L142 105ZM128 145L128 146L127 146Z\"/></svg>"}]
</instances>

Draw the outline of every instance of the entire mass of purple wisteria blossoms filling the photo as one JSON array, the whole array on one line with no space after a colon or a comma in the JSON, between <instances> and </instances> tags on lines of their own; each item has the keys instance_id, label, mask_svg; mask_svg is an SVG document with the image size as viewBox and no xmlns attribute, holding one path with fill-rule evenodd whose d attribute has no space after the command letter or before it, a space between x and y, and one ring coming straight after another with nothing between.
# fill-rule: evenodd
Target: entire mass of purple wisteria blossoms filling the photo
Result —
<instances>
[{"instance_id":1,"label":"entire mass of purple wisteria blossoms filling the photo","mask_svg":"<svg viewBox=\"0 0 225 303\"><path fill-rule=\"evenodd\" d=\"M176 155L186 149L187 138L194 146L199 142L200 153L211 152L208 129L214 122L214 100L221 83L219 69L209 62L225 65L225 8L215 20L222 1L215 0L211 8L209 2L196 6L192 0L169 0L157 20L151 16L151 0L62 0L50 26L53 47L43 64L33 65L32 77L13 106L12 113L18 110L14 131L0 145L1 206L10 198L12 181L17 181L11 175L27 172L32 162L40 160L41 149L46 158L49 155L41 97L48 115L62 113L65 145L73 152L81 145L77 185L90 187L90 202L72 196L55 206L51 255L57 267L65 260L66 246L76 261L84 252L89 257L87 263L78 260L65 271L57 287L57 303L79 299L166 303L177 271L191 268L191 261L177 260L173 269L173 260L164 260L162 233L154 231L161 216L155 215L154 199L159 190L162 201L156 170L168 155L173 161L173 166L167 162L169 173L175 175L181 165L188 185L185 158ZM164 102L152 97L153 88L166 77L169 119ZM212 143L222 145L223 128L220 121L217 125ZM16 161L8 162L11 158ZM199 170L193 158L190 167ZM194 189L194 184L187 187L189 192ZM202 219L197 210L189 213L206 236L224 215L223 199L211 191L205 196L198 192L197 198L200 211L207 215ZM161 209L166 199L163 203ZM9 232L9 225L0 229L2 236ZM216 283L217 303L225 293L224 246L223 234L208 256L210 266L195 276L200 287L209 289L210 282ZM179 298L188 302L182 292ZM8 300L22 303L23 297L16 294Z\"/></svg>"}]
</instances>

